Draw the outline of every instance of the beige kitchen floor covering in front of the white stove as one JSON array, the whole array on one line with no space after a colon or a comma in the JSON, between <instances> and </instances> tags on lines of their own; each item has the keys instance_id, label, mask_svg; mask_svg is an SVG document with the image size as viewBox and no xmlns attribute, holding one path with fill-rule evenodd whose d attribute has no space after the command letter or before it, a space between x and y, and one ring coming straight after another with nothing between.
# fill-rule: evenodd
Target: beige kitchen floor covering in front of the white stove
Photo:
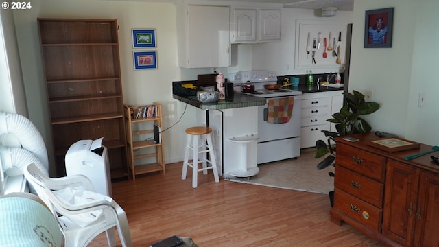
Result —
<instances>
[{"instance_id":1,"label":"beige kitchen floor covering in front of the white stove","mask_svg":"<svg viewBox=\"0 0 439 247\"><path fill-rule=\"evenodd\" d=\"M305 150L298 158L258 165L259 173L250 178L227 178L226 180L327 194L334 189L334 178L328 174L334 172L334 167L317 169L317 164L322 158L314 158L315 154L315 149Z\"/></svg>"}]
</instances>

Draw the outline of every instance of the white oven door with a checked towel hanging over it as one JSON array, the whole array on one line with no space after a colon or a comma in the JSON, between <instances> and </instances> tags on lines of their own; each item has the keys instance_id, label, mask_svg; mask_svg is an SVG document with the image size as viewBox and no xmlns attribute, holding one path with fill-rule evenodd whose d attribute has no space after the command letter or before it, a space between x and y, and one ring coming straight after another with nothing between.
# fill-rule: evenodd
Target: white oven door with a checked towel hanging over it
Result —
<instances>
[{"instance_id":1,"label":"white oven door with a checked towel hanging over it","mask_svg":"<svg viewBox=\"0 0 439 247\"><path fill-rule=\"evenodd\" d=\"M270 124L264 120L264 109L268 109L268 100L270 98L267 99L267 104L258 107L258 143L300 137L302 95L285 97L294 97L292 118L285 124ZM278 98L281 97L276 97L276 99Z\"/></svg>"}]
</instances>

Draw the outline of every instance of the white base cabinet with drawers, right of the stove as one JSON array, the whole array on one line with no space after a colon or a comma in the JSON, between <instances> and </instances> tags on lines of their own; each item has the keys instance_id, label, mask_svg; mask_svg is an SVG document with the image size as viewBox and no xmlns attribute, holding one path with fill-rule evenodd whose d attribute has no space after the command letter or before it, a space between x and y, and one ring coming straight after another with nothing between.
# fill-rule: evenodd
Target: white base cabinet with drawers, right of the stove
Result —
<instances>
[{"instance_id":1,"label":"white base cabinet with drawers, right of the stove","mask_svg":"<svg viewBox=\"0 0 439 247\"><path fill-rule=\"evenodd\" d=\"M327 119L342 108L343 91L304 93L302 95L302 125L300 148L316 146L317 140L327 141L322 130L337 132Z\"/></svg>"}]
</instances>

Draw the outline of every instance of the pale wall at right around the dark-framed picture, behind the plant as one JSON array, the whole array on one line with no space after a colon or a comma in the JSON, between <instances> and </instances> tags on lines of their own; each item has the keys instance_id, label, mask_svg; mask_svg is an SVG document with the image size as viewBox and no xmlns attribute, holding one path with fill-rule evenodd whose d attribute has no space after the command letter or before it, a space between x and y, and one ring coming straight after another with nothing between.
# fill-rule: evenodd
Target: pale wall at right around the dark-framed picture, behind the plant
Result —
<instances>
[{"instance_id":1,"label":"pale wall at right around the dark-framed picture, behind the plant","mask_svg":"<svg viewBox=\"0 0 439 247\"><path fill-rule=\"evenodd\" d=\"M364 48L364 12L394 7L392 48ZM375 130L438 145L439 1L355 1L349 90L372 89L381 108L366 116ZM423 108L418 94L425 92Z\"/></svg>"}]
</instances>

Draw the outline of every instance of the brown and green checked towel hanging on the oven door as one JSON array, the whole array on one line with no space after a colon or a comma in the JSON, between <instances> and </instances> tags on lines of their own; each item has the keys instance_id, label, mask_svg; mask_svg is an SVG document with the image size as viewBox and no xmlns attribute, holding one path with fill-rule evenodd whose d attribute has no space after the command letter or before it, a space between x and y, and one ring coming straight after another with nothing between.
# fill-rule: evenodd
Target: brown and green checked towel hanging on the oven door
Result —
<instances>
[{"instance_id":1,"label":"brown and green checked towel hanging on the oven door","mask_svg":"<svg viewBox=\"0 0 439 247\"><path fill-rule=\"evenodd\" d=\"M270 124L288 123L293 115L294 97L268 100L267 122Z\"/></svg>"}]
</instances>

